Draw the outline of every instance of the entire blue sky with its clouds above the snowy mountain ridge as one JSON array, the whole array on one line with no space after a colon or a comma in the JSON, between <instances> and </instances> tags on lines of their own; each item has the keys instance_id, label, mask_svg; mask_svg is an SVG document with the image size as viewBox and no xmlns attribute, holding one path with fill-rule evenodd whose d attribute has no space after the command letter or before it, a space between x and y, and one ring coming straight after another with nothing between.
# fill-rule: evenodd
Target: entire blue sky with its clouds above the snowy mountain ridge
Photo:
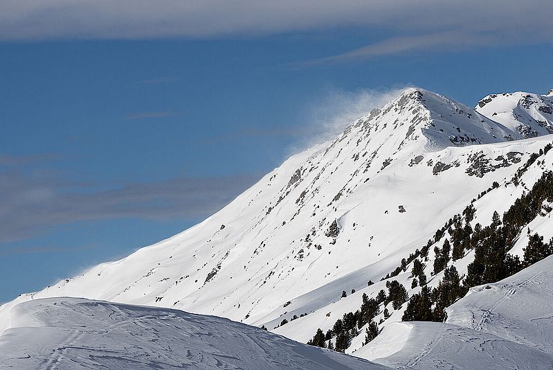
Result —
<instances>
[{"instance_id":1,"label":"entire blue sky with its clouds above the snowy mountain ridge","mask_svg":"<svg viewBox=\"0 0 553 370\"><path fill-rule=\"evenodd\" d=\"M355 3L3 2L0 301L190 227L401 87L553 88L546 1Z\"/></svg>"}]
</instances>

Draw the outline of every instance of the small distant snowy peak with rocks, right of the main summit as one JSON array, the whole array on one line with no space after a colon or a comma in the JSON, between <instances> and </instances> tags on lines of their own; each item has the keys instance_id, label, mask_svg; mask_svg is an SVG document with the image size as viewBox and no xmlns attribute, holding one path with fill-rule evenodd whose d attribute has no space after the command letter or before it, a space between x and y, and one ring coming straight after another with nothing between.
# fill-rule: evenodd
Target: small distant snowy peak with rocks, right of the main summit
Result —
<instances>
[{"instance_id":1,"label":"small distant snowy peak with rocks, right of the main summit","mask_svg":"<svg viewBox=\"0 0 553 370\"><path fill-rule=\"evenodd\" d=\"M553 134L551 91L547 95L522 91L491 94L480 100L475 109L524 137Z\"/></svg>"}]
</instances>

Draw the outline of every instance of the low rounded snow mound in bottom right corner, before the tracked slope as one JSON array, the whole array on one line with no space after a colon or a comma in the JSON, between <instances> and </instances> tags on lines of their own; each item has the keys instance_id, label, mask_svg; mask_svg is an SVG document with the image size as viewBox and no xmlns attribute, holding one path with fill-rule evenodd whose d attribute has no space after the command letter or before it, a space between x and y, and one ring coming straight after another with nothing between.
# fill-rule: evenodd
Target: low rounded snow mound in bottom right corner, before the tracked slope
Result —
<instances>
[{"instance_id":1,"label":"low rounded snow mound in bottom right corner, before the tracked slope","mask_svg":"<svg viewBox=\"0 0 553 370\"><path fill-rule=\"evenodd\" d=\"M377 341L378 340L378 341ZM547 370L553 356L487 333L437 322L397 322L354 355L395 369ZM389 348L399 351L389 355ZM386 357L381 358L381 355Z\"/></svg>"}]
</instances>

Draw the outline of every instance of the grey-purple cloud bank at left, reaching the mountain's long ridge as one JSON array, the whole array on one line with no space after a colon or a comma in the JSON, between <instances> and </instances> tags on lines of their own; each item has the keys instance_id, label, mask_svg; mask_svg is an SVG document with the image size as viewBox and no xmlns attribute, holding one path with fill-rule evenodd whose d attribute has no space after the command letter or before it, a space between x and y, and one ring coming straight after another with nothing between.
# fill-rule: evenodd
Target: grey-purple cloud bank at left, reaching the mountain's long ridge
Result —
<instances>
[{"instance_id":1,"label":"grey-purple cloud bank at left, reaching the mountain's long ridge","mask_svg":"<svg viewBox=\"0 0 553 370\"><path fill-rule=\"evenodd\" d=\"M215 213L260 176L175 177L119 186L82 184L47 168L0 171L0 243L37 236L83 220L139 218L198 221Z\"/></svg>"}]
</instances>

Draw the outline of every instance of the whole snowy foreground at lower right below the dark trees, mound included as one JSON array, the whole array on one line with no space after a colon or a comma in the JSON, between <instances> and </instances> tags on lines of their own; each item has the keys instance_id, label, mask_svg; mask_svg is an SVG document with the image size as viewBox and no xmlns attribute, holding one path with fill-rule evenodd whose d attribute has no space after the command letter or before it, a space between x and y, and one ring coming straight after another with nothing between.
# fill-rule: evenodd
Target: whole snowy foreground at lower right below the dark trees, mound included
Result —
<instances>
[{"instance_id":1,"label":"whole snowy foreground at lower right below the dark trees, mound included","mask_svg":"<svg viewBox=\"0 0 553 370\"><path fill-rule=\"evenodd\" d=\"M398 322L359 355L401 369L552 369L553 257L472 288L445 324Z\"/></svg>"}]
</instances>

